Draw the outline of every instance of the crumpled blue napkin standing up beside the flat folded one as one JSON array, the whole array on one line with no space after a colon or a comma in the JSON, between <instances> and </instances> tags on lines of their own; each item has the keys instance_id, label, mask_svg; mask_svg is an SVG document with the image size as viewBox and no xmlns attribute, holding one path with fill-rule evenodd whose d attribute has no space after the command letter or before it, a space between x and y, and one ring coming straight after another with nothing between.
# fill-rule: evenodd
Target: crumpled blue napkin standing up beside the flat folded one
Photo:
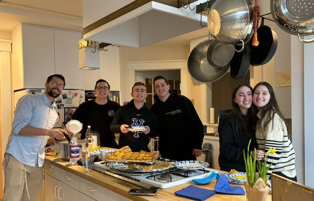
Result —
<instances>
[{"instance_id":1,"label":"crumpled blue napkin standing up beside the flat folded one","mask_svg":"<svg viewBox=\"0 0 314 201\"><path fill-rule=\"evenodd\" d=\"M223 174L220 174L217 178L214 191L218 193L245 195L244 189L241 186L230 186L228 177Z\"/></svg>"}]
</instances>

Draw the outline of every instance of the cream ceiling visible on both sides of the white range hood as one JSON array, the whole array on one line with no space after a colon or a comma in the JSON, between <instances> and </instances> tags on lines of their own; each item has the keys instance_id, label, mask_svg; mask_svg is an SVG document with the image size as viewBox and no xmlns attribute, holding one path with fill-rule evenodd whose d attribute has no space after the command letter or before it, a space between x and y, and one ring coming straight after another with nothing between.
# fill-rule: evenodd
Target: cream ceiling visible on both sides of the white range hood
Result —
<instances>
[{"instance_id":1,"label":"cream ceiling visible on both sides of the white range hood","mask_svg":"<svg viewBox=\"0 0 314 201\"><path fill-rule=\"evenodd\" d=\"M0 31L11 32L20 23L83 31L83 0L0 0ZM208 35L207 27L148 45L190 45L190 40Z\"/></svg>"}]
</instances>

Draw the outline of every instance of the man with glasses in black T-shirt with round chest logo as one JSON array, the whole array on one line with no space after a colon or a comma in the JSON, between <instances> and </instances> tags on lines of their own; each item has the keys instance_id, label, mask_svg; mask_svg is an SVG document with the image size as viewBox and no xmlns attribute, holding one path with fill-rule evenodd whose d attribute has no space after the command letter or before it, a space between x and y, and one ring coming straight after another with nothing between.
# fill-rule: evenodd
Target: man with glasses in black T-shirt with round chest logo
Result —
<instances>
[{"instance_id":1,"label":"man with glasses in black T-shirt with round chest logo","mask_svg":"<svg viewBox=\"0 0 314 201\"><path fill-rule=\"evenodd\" d=\"M83 123L82 140L85 138L87 126L90 126L92 130L97 130L99 133L100 146L117 148L115 134L109 127L120 105L107 99L110 85L106 80L97 80L94 93L97 95L96 99L80 104L72 114L72 119Z\"/></svg>"}]
</instances>

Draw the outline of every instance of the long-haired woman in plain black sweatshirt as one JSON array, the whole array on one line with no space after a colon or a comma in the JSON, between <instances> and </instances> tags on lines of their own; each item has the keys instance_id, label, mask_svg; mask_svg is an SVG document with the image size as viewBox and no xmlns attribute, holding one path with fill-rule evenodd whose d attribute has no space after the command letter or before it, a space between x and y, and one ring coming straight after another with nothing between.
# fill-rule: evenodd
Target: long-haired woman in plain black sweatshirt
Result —
<instances>
[{"instance_id":1,"label":"long-haired woman in plain black sweatshirt","mask_svg":"<svg viewBox=\"0 0 314 201\"><path fill-rule=\"evenodd\" d=\"M257 148L251 111L252 92L252 87L248 84L237 85L232 93L233 111L225 115L218 125L218 161L222 171L230 172L231 169L236 169L246 172L243 150L247 150L250 139L250 150Z\"/></svg>"}]
</instances>

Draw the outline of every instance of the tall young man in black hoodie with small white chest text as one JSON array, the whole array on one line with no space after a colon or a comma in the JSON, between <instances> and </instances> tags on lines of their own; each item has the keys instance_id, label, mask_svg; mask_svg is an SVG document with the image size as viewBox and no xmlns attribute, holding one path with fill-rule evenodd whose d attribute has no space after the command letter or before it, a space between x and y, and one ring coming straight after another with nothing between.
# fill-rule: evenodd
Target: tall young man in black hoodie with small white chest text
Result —
<instances>
[{"instance_id":1,"label":"tall young man in black hoodie with small white chest text","mask_svg":"<svg viewBox=\"0 0 314 201\"><path fill-rule=\"evenodd\" d=\"M151 110L157 116L161 157L176 161L196 160L202 153L202 121L190 99L169 89L165 77L154 77L156 102Z\"/></svg>"}]
</instances>

